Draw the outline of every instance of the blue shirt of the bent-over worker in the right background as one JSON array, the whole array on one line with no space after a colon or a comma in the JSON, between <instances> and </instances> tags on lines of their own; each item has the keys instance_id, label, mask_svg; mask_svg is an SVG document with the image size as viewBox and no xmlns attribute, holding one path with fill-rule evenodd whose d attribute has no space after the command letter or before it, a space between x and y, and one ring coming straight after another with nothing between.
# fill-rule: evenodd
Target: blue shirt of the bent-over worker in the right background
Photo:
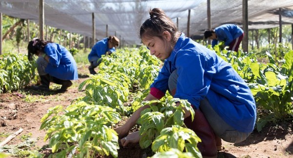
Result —
<instances>
[{"instance_id":1,"label":"blue shirt of the bent-over worker in the right background","mask_svg":"<svg viewBox=\"0 0 293 158\"><path fill-rule=\"evenodd\" d=\"M215 46L219 41L224 41L225 46L229 46L233 39L236 39L243 34L243 30L234 24L225 24L215 28L217 39L213 39L211 46Z\"/></svg>"}]
</instances>

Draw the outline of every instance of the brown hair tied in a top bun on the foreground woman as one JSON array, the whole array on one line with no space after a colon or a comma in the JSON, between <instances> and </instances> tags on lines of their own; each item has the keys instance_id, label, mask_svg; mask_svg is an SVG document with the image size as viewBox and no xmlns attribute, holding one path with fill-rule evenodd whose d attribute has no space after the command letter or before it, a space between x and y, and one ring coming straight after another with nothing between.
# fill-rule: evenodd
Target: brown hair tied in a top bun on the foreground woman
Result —
<instances>
[{"instance_id":1,"label":"brown hair tied in a top bun on the foreground woman","mask_svg":"<svg viewBox=\"0 0 293 158\"><path fill-rule=\"evenodd\" d=\"M171 34L171 42L175 43L176 33L179 33L175 23L166 16L165 12L160 8L153 8L149 11L150 18L147 19L140 28L140 38L144 35L157 36L163 39L163 32L167 31Z\"/></svg>"}]
</instances>

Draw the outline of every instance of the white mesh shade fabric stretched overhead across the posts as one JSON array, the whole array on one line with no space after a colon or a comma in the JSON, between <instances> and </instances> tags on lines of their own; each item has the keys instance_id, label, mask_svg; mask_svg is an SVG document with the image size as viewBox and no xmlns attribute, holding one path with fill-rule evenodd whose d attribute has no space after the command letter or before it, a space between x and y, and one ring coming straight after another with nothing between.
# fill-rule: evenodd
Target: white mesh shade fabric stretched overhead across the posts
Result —
<instances>
[{"instance_id":1,"label":"white mesh shade fabric stretched overhead across the posts","mask_svg":"<svg viewBox=\"0 0 293 158\"><path fill-rule=\"evenodd\" d=\"M154 7L162 8L175 23L178 18L181 32L187 32L188 9L190 35L203 35L208 27L207 0L44 0L44 3L46 25L91 37L94 13L97 39L106 36L108 25L108 35L116 32L128 44L140 43L139 27ZM249 29L278 27L280 7L283 23L292 24L293 0L249 0ZM242 26L242 0L210 0L210 8L212 28L224 23ZM0 12L38 22L39 0L1 0Z\"/></svg>"}]
</instances>

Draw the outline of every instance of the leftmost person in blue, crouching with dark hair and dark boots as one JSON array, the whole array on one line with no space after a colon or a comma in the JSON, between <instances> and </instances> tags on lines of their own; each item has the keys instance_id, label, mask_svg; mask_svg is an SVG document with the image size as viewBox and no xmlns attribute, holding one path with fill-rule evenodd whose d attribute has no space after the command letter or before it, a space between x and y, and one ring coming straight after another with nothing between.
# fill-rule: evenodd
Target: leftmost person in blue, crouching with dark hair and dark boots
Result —
<instances>
[{"instance_id":1,"label":"leftmost person in blue, crouching with dark hair and dark boots","mask_svg":"<svg viewBox=\"0 0 293 158\"><path fill-rule=\"evenodd\" d=\"M40 86L32 86L36 90L50 90L50 82L62 85L57 92L64 92L72 85L70 80L77 80L76 62L66 48L50 41L34 38L28 43L28 59L33 54L39 56L37 69L41 78Z\"/></svg>"}]
</instances>

